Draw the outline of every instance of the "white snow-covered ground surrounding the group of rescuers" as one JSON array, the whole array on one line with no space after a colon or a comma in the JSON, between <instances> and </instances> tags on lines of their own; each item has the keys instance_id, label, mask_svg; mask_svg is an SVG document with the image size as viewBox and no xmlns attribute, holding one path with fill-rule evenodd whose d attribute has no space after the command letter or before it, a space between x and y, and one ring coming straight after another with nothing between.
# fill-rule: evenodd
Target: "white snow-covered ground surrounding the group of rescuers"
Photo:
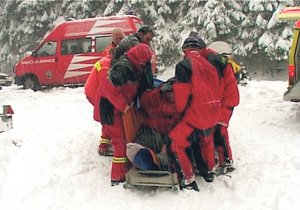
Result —
<instances>
[{"instance_id":1,"label":"white snow-covered ground surrounding the group of rescuers","mask_svg":"<svg viewBox=\"0 0 300 210\"><path fill-rule=\"evenodd\" d=\"M286 86L240 87L230 125L236 171L198 178L199 193L111 187L111 158L97 154L100 125L82 87L3 87L0 103L15 114L0 133L0 209L299 209L300 103L282 101Z\"/></svg>"}]
</instances>

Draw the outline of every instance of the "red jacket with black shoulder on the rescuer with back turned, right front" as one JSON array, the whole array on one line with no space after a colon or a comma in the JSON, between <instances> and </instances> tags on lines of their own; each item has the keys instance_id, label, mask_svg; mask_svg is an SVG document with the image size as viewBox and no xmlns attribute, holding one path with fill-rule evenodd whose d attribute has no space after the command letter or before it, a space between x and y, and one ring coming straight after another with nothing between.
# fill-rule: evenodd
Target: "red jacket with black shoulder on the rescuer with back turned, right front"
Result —
<instances>
[{"instance_id":1,"label":"red jacket with black shoulder on the rescuer with back turned, right front","mask_svg":"<svg viewBox=\"0 0 300 210\"><path fill-rule=\"evenodd\" d=\"M174 83L175 104L183 112L183 120L198 129L216 125L221 111L220 78L199 51L187 51L176 65Z\"/></svg>"}]
</instances>

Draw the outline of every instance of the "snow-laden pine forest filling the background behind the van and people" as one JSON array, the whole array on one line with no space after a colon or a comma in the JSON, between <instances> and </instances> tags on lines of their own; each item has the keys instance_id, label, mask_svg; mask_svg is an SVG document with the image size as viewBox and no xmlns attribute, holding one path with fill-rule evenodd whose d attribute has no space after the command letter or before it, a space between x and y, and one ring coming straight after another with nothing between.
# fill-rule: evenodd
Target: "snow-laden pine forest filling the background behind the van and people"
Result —
<instances>
[{"instance_id":1,"label":"snow-laden pine forest filling the background behind the van and people","mask_svg":"<svg viewBox=\"0 0 300 210\"><path fill-rule=\"evenodd\" d=\"M174 65L190 31L209 44L228 42L234 53L265 60L287 59L292 21L278 21L296 0L15 0L0 2L0 69L9 72L63 17L135 14L155 29L153 48L165 65Z\"/></svg>"}]
</instances>

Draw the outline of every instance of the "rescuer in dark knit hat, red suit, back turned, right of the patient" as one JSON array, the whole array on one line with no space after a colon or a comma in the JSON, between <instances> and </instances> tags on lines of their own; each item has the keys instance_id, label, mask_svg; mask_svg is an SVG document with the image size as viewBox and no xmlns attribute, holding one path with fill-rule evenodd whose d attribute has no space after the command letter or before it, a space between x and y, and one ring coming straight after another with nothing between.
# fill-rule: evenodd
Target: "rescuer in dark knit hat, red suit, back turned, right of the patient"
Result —
<instances>
[{"instance_id":1,"label":"rescuer in dark knit hat, red suit, back turned, right of the patient","mask_svg":"<svg viewBox=\"0 0 300 210\"><path fill-rule=\"evenodd\" d=\"M216 68L201 56L196 38L188 37L182 48L185 57L175 67L178 82L173 84L173 89L176 110L183 113L183 117L169 137L171 148L182 167L182 186L199 191L185 150L198 138L207 173L213 178L214 127L221 111L220 78Z\"/></svg>"}]
</instances>

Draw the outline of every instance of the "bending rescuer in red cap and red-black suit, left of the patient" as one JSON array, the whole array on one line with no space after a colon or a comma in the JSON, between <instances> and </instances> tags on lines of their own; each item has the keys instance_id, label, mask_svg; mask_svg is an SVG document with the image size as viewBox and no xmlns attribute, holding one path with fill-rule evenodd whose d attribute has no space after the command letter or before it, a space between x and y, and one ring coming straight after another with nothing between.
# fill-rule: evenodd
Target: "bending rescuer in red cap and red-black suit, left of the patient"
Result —
<instances>
[{"instance_id":1,"label":"bending rescuer in red cap and red-black suit, left of the patient","mask_svg":"<svg viewBox=\"0 0 300 210\"><path fill-rule=\"evenodd\" d=\"M110 129L113 145L112 186L125 181L129 166L122 113L125 113L135 102L140 78L151 56L151 49L145 44L138 44L131 48L126 56L122 56L111 66L109 82L100 83L98 88L99 93L103 91L103 95L100 94L99 98L101 123L106 124Z\"/></svg>"}]
</instances>

